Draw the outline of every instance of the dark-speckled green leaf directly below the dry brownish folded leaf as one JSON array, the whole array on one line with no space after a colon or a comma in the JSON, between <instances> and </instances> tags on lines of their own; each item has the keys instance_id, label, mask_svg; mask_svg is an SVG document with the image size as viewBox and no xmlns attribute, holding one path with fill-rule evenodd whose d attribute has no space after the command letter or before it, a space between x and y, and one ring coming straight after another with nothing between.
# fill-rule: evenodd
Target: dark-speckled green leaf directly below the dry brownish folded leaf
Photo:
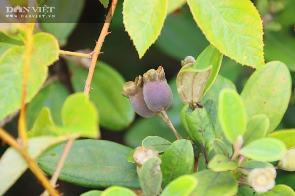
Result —
<instances>
[{"instance_id":1,"label":"dark-speckled green leaf directly below the dry brownish folded leaf","mask_svg":"<svg viewBox=\"0 0 295 196\"><path fill-rule=\"evenodd\" d=\"M181 122L190 139L200 148L205 156L212 150L215 129L206 109L196 108L192 111L188 105L181 111Z\"/></svg>"}]
</instances>

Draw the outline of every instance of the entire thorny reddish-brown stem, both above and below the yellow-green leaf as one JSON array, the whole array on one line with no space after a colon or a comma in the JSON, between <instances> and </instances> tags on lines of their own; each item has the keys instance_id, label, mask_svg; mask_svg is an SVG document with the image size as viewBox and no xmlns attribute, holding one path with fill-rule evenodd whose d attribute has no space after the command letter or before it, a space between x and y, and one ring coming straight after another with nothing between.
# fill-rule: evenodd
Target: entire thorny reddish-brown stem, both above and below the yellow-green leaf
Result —
<instances>
[{"instance_id":1,"label":"entire thorny reddish-brown stem, both above and below the yellow-green leaf","mask_svg":"<svg viewBox=\"0 0 295 196\"><path fill-rule=\"evenodd\" d=\"M97 58L98 58L98 56L100 54L100 49L102 47L104 39L109 34L108 33L108 28L109 28L111 20L113 18L113 14L114 14L114 11L116 9L116 5L117 5L117 0L113 0L112 5L111 5L111 7L109 9L108 15L106 17L105 23L104 23L103 28L101 30L101 33L99 35L98 41L96 42L96 46L94 48L92 58L91 58L91 64L90 64L90 68L89 68L89 71L88 71L88 76L87 76L87 79L85 81L84 94L86 94L86 95L88 95L89 91L91 90L90 84L91 84L92 76L93 76L94 69L95 69L95 66L96 66L96 61L97 61ZM56 170L54 172L54 176L52 176L52 178L50 180L52 183L54 182L52 184L53 186L56 183L56 180L57 180L57 178L59 176L59 173L61 171L63 163L64 163L64 161L65 161L65 159L66 159L66 157L67 157L67 155L68 155L68 153L70 151L70 148L71 148L73 142L75 141L75 139L76 139L75 137L70 138L68 140L68 142L66 143L66 147L65 147L64 151L62 152L62 155L61 155L61 158L59 160L58 166L57 166L57 168L56 168ZM64 159L64 160L62 161L61 159Z\"/></svg>"}]
</instances>

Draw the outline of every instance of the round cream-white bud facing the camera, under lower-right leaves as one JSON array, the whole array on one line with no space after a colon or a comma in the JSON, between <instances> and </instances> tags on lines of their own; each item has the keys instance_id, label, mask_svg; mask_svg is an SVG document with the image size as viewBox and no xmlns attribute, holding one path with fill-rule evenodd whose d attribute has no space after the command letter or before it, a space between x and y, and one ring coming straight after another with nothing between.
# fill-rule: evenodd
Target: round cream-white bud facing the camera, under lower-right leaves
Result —
<instances>
[{"instance_id":1,"label":"round cream-white bud facing the camera, under lower-right leaves","mask_svg":"<svg viewBox=\"0 0 295 196\"><path fill-rule=\"evenodd\" d=\"M275 177L276 170L272 167L255 168L250 172L248 180L255 191L264 193L274 187Z\"/></svg>"}]
</instances>

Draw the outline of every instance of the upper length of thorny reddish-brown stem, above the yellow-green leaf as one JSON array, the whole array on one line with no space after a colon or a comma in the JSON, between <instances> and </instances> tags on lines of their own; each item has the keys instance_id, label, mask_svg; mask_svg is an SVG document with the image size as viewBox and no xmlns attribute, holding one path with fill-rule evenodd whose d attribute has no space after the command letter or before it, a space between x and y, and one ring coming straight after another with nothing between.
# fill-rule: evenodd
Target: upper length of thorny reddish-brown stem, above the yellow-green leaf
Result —
<instances>
[{"instance_id":1,"label":"upper length of thorny reddish-brown stem, above the yellow-green leaf","mask_svg":"<svg viewBox=\"0 0 295 196\"><path fill-rule=\"evenodd\" d=\"M114 11L116 9L116 5L117 5L117 0L113 0L112 4L111 4L111 7L109 9L108 15L106 17L105 23L104 23L104 25L102 27L102 30L101 30L101 33L99 35L98 41L96 42L96 46L95 46L95 48L93 50L93 54L92 54L92 58L91 58L91 64L90 64L90 68L89 68L89 71L88 71L88 76L87 76L87 79L85 81L85 87L84 87L84 94L86 94L86 95L88 95L89 91L91 90L90 85L91 85L94 69L95 69L95 66L96 66L96 61L97 61L97 58L98 58L98 56L100 54L100 50L101 50L102 44L104 42L104 39L109 34L108 29L109 29L110 23L112 21L113 14L114 14Z\"/></svg>"}]
</instances>

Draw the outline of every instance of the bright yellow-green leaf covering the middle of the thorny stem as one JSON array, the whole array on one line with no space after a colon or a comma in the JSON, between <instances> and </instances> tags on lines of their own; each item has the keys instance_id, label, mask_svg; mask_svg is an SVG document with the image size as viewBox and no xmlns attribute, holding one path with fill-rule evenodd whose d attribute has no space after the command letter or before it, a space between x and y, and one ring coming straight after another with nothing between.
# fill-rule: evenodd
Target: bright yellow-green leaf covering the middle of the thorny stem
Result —
<instances>
[{"instance_id":1,"label":"bright yellow-green leaf covering the middle of the thorny stem","mask_svg":"<svg viewBox=\"0 0 295 196\"><path fill-rule=\"evenodd\" d=\"M82 137L97 138L99 115L89 97L83 93L68 96L61 109L63 126L55 127L61 134L75 133Z\"/></svg>"}]
</instances>

